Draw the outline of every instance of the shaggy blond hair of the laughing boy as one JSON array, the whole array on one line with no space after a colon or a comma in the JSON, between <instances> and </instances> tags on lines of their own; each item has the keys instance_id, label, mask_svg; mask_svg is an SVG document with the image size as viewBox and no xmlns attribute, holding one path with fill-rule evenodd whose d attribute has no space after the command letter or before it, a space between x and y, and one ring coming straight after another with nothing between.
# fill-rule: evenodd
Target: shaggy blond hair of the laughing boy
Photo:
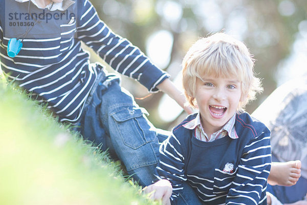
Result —
<instances>
[{"instance_id":1,"label":"shaggy blond hair of the laughing boy","mask_svg":"<svg viewBox=\"0 0 307 205\"><path fill-rule=\"evenodd\" d=\"M243 42L225 33L215 33L199 39L191 46L182 62L183 89L188 103L196 106L196 78L235 76L242 82L242 96L237 112L243 112L249 101L262 91L254 76L254 59Z\"/></svg>"}]
</instances>

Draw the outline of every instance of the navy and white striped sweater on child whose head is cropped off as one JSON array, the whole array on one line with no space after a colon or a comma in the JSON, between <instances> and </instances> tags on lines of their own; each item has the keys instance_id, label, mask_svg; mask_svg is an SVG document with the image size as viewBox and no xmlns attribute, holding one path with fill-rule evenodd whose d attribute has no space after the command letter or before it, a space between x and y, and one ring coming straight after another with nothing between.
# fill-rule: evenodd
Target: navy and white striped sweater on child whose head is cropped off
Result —
<instances>
[{"instance_id":1,"label":"navy and white striped sweater on child whose head is cropped off","mask_svg":"<svg viewBox=\"0 0 307 205\"><path fill-rule=\"evenodd\" d=\"M63 3L68 2L64 0ZM75 124L86 97L100 71L89 64L89 53L82 50L81 42L93 48L106 63L119 73L137 79L150 92L168 74L154 66L148 58L128 40L113 33L98 17L87 0L76 0L65 11L39 9L28 2L0 0L0 59L3 73L8 79L33 93L42 103L48 103L61 121ZM19 54L10 58L7 45L10 38L25 33L25 26L9 26L9 13L52 14L48 22L40 20L23 41ZM55 15L58 13L58 15ZM71 17L73 14L74 17ZM13 16L13 15L11 15ZM69 18L68 18L69 16ZM25 17L21 15L21 17ZM19 20L21 22L22 20ZM35 22L35 20L29 20Z\"/></svg>"}]
</instances>

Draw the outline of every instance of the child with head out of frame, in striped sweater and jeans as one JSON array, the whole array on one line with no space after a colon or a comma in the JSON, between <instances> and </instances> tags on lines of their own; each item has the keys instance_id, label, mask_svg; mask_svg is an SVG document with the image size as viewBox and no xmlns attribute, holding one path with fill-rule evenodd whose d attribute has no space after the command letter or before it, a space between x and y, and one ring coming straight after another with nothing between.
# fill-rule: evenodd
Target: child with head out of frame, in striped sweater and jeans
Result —
<instances>
[{"instance_id":1,"label":"child with head out of frame, in striped sweater and jeans","mask_svg":"<svg viewBox=\"0 0 307 205\"><path fill-rule=\"evenodd\" d=\"M164 91L184 107L184 95L169 74L109 29L90 1L0 0L0 5L0 60L7 79L48 104L59 121L78 125L85 139L109 149L140 185L149 185L163 134L122 89L119 76L90 64L81 42L117 72L138 80L149 92ZM12 14L17 19L10 20ZM14 20L27 25L9 26ZM18 38L23 47L16 56L9 55L16 47L9 42Z\"/></svg>"}]
</instances>

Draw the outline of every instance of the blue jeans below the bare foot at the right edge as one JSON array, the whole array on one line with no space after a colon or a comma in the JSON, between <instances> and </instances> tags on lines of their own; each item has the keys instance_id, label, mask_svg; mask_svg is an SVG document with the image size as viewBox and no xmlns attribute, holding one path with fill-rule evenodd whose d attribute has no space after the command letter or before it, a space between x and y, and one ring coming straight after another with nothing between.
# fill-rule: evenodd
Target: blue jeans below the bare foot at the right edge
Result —
<instances>
[{"instance_id":1,"label":"blue jeans below the bare foot at the right edge","mask_svg":"<svg viewBox=\"0 0 307 205\"><path fill-rule=\"evenodd\" d=\"M274 154L272 154L272 161L279 161ZM268 184L267 192L276 196L281 203L294 203L303 200L306 196L307 179L301 176L296 184L291 187L271 186Z\"/></svg>"}]
</instances>

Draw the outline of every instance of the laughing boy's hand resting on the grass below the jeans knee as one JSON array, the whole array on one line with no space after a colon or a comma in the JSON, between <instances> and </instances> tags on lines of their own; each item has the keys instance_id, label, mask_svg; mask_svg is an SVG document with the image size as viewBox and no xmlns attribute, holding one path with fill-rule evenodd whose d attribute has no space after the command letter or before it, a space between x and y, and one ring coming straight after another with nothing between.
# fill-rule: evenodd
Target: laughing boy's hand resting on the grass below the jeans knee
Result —
<instances>
[{"instance_id":1,"label":"laughing boy's hand resting on the grass below the jeans knee","mask_svg":"<svg viewBox=\"0 0 307 205\"><path fill-rule=\"evenodd\" d=\"M170 205L170 199L172 193L172 187L171 183L166 180L162 179L157 181L156 183L153 183L152 185L149 185L148 187L145 187L143 191L146 194L149 194L149 197L153 200L160 200L162 199L163 205Z\"/></svg>"}]
</instances>

